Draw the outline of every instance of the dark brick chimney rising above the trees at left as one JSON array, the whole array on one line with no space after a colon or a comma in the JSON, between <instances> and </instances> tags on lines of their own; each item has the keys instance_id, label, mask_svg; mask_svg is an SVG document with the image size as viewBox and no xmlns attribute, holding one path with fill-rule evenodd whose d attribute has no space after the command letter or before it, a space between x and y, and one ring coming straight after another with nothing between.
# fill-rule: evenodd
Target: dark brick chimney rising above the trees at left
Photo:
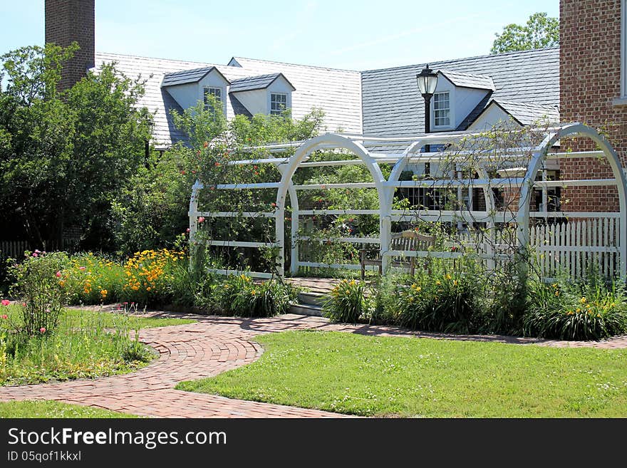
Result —
<instances>
[{"instance_id":1,"label":"dark brick chimney rising above the trees at left","mask_svg":"<svg viewBox=\"0 0 627 468\"><path fill-rule=\"evenodd\" d=\"M81 48L63 65L59 88L71 88L95 65L95 0L46 0L46 43Z\"/></svg>"}]
</instances>

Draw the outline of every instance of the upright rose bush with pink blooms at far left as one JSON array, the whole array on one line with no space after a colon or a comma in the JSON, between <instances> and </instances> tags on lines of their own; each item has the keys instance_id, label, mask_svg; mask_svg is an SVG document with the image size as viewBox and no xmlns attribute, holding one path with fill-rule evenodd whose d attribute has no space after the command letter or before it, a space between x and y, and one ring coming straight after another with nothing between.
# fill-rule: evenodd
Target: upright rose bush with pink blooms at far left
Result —
<instances>
[{"instance_id":1,"label":"upright rose bush with pink blooms at far left","mask_svg":"<svg viewBox=\"0 0 627 468\"><path fill-rule=\"evenodd\" d=\"M9 293L21 304L21 331L28 336L53 333L66 305L61 271L68 264L63 252L26 252L26 259L11 267L14 284Z\"/></svg>"}]
</instances>

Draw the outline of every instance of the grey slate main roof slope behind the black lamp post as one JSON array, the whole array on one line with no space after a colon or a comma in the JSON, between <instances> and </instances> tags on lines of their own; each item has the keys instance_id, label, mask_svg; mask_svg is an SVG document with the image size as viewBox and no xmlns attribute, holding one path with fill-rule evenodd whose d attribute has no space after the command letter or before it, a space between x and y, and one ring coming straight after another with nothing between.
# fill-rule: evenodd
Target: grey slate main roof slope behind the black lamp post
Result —
<instances>
[{"instance_id":1,"label":"grey slate main roof slope behind the black lamp post","mask_svg":"<svg viewBox=\"0 0 627 468\"><path fill-rule=\"evenodd\" d=\"M425 65L362 72L365 134L400 136L424 132L424 100L418 92L416 75ZM431 62L430 67L492 78L494 92L488 92L472 111L475 117L491 99L547 107L559 105L559 47ZM459 130L467 128L469 123L465 124Z\"/></svg>"}]
</instances>

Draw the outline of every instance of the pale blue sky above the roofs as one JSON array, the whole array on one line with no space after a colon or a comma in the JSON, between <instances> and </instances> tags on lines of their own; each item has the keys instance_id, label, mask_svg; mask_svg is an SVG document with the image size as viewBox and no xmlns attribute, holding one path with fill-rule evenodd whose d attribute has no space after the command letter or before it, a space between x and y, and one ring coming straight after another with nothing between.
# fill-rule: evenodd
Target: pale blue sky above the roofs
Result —
<instances>
[{"instance_id":1,"label":"pale blue sky above the roofs","mask_svg":"<svg viewBox=\"0 0 627 468\"><path fill-rule=\"evenodd\" d=\"M0 53L43 45L43 0L0 1ZM559 0L96 0L96 51L370 70L489 53Z\"/></svg>"}]
</instances>

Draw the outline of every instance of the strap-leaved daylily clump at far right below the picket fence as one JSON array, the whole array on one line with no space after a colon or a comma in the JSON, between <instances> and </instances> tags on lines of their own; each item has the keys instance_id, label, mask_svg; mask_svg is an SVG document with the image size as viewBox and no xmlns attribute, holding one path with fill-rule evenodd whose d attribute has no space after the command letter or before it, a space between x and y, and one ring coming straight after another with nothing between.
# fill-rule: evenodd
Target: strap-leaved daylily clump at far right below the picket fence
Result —
<instances>
[{"instance_id":1,"label":"strap-leaved daylily clump at far right below the picket fence","mask_svg":"<svg viewBox=\"0 0 627 468\"><path fill-rule=\"evenodd\" d=\"M627 332L624 286L591 279L529 284L524 334L559 340L600 340Z\"/></svg>"}]
</instances>

